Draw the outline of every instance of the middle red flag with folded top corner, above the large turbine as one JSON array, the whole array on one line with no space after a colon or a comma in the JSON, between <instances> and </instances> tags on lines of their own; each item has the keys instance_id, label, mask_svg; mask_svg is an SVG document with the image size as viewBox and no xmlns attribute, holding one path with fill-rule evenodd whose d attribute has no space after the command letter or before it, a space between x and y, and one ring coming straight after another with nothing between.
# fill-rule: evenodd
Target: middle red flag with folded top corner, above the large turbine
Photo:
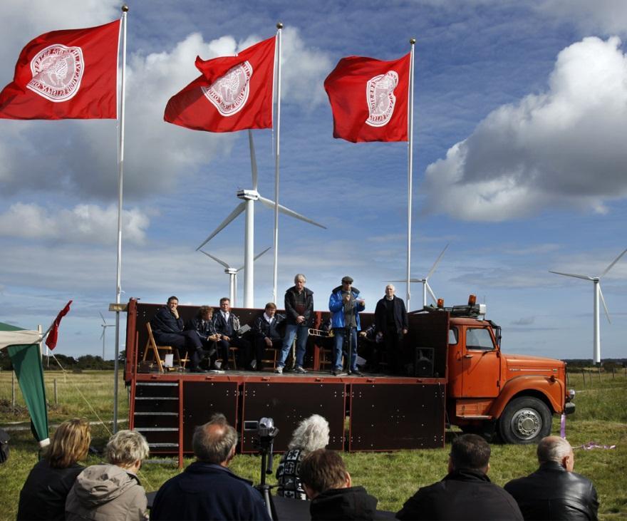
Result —
<instances>
[{"instance_id":1,"label":"middle red flag with folded top corner, above the large turbine","mask_svg":"<svg viewBox=\"0 0 627 521\"><path fill-rule=\"evenodd\" d=\"M238 56L197 57L202 76L170 98L163 119L209 132L272 128L275 41L255 43Z\"/></svg>"}]
</instances>

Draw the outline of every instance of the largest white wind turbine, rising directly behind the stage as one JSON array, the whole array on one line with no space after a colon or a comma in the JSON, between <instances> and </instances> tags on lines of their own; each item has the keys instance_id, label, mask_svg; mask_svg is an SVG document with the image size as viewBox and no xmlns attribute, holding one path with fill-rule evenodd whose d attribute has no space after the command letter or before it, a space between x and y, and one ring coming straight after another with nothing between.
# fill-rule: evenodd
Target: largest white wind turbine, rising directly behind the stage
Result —
<instances>
[{"instance_id":1,"label":"largest white wind turbine, rising directly behind the stage","mask_svg":"<svg viewBox=\"0 0 627 521\"><path fill-rule=\"evenodd\" d=\"M274 209L274 201L267 199L259 194L257 191L258 177L257 177L257 159L255 158L254 143L252 141L252 132L248 131L248 144L250 148L250 168L252 172L252 190L238 190L237 197L242 202L237 205L234 210L227 216L224 221L212 232L212 234L204 239L202 244L196 248L198 251L200 248L213 239L219 232L222 231L229 223L235 219L239 214L246 211L246 223L244 225L244 307L251 308L254 306L254 272L253 272L253 254L254 254L254 202L259 201L266 207ZM317 222L289 210L282 205L279 205L279 212L299 219L304 222L309 222L310 225L318 226L326 229L326 226L320 225Z\"/></svg>"}]
</instances>

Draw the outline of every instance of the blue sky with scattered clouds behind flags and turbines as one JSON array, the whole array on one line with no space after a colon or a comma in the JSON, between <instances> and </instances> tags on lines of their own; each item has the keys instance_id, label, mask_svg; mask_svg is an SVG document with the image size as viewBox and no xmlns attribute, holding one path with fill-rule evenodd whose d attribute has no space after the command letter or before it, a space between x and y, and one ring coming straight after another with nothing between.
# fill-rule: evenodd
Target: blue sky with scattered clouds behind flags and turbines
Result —
<instances>
[{"instance_id":1,"label":"blue sky with scattered clouds behind flags and turbines","mask_svg":"<svg viewBox=\"0 0 627 521\"><path fill-rule=\"evenodd\" d=\"M284 23L279 294L296 272L316 309L344 274L366 298L405 277L407 145L334 140L323 79L343 56L415 47L413 277L446 244L430 283L447 305L477 294L508 352L591 358L592 284L627 247L627 4L604 0L129 1L123 300L217 305L219 264L195 252L249 188L247 133L162 121L167 99L224 56ZM0 83L40 33L118 18L108 0L0 5ZM254 131L259 192L274 194L270 130ZM58 351L100 354L115 301L115 121L0 120L0 320L45 327L68 299ZM258 207L255 250L272 244ZM207 245L243 264L243 217ZM242 301L243 276L239 277ZM603 358L626 356L627 255L602 279ZM255 265L272 295L272 254ZM405 285L397 284L399 296ZM412 289L411 307L421 303ZM281 300L281 299L279 299ZM280 304L280 303L279 303ZM107 358L113 329L107 331Z\"/></svg>"}]
</instances>

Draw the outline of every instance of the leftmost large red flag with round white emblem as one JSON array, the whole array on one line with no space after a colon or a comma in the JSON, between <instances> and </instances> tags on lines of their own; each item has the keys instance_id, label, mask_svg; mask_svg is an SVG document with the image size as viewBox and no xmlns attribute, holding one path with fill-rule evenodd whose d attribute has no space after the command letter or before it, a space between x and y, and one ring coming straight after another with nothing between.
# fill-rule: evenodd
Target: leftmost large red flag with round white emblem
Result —
<instances>
[{"instance_id":1,"label":"leftmost large red flag with round white emblem","mask_svg":"<svg viewBox=\"0 0 627 521\"><path fill-rule=\"evenodd\" d=\"M118 20L30 41L0 93L0 118L117 118L119 40Z\"/></svg>"}]
</instances>

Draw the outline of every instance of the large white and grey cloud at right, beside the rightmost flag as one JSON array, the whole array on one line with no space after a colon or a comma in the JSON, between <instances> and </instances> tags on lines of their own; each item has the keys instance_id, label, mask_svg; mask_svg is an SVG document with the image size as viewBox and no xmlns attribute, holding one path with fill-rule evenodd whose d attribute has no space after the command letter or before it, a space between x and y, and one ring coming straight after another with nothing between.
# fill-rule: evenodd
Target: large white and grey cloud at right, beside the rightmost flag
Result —
<instances>
[{"instance_id":1,"label":"large white and grey cloud at right, beside the rightmost flag","mask_svg":"<svg viewBox=\"0 0 627 521\"><path fill-rule=\"evenodd\" d=\"M627 58L584 38L557 57L546 93L502 105L427 167L431 211L502 221L546 207L605 212L627 195Z\"/></svg>"}]
</instances>

